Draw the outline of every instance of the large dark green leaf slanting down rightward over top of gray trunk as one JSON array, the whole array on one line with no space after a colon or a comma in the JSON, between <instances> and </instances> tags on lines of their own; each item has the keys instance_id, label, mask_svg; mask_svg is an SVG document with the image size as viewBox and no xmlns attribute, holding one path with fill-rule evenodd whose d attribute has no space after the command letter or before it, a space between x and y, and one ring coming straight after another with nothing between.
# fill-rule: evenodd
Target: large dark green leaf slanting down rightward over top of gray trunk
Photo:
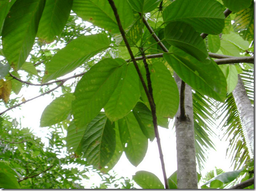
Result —
<instances>
[{"instance_id":1,"label":"large dark green leaf slanting down rightward over top of gray trunk","mask_svg":"<svg viewBox=\"0 0 256 191\"><path fill-rule=\"evenodd\" d=\"M178 48L173 47L170 51L173 54L164 54L164 58L185 83L202 94L224 102L227 82L212 59L199 62Z\"/></svg>"}]
</instances>

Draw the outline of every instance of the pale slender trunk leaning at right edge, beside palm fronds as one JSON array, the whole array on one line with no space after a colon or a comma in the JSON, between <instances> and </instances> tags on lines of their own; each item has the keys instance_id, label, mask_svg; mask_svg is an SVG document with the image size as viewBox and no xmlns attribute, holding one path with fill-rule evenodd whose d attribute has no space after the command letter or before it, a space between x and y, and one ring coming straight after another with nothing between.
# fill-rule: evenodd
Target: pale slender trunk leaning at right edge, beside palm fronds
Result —
<instances>
[{"instance_id":1,"label":"pale slender trunk leaning at right edge, beside palm fronds","mask_svg":"<svg viewBox=\"0 0 256 191\"><path fill-rule=\"evenodd\" d=\"M244 124L245 133L248 135L250 146L254 152L254 108L247 96L247 92L240 75L238 75L237 87L235 87L232 93Z\"/></svg>"}]
</instances>

